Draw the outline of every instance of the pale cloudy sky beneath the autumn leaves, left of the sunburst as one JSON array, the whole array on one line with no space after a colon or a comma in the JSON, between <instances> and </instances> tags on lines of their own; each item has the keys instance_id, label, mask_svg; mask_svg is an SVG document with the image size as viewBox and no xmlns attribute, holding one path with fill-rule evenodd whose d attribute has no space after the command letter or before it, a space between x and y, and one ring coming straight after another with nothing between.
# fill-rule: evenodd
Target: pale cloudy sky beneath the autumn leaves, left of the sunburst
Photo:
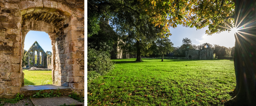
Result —
<instances>
[{"instance_id":1,"label":"pale cloudy sky beneath the autumn leaves, left of the sunburst","mask_svg":"<svg viewBox=\"0 0 256 106\"><path fill-rule=\"evenodd\" d=\"M214 33L211 36L205 34L208 27L198 29L183 27L182 25L177 25L176 28L169 28L172 36L169 36L171 42L173 42L173 47L180 47L182 45L183 38L191 39L192 45L200 45L203 43L217 44L219 46L233 47L235 46L234 31L224 31L221 33Z\"/></svg>"}]
</instances>

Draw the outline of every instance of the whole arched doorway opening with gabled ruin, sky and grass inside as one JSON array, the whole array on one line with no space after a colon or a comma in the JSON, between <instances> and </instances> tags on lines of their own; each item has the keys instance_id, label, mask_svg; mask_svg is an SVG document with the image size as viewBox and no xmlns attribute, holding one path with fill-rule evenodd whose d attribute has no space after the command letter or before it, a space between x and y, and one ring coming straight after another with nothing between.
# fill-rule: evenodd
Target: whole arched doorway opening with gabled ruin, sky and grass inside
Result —
<instances>
[{"instance_id":1,"label":"whole arched doorway opening with gabled ruin, sky and grass inside","mask_svg":"<svg viewBox=\"0 0 256 106\"><path fill-rule=\"evenodd\" d=\"M52 84L49 35L42 31L29 31L24 39L24 51L24 85Z\"/></svg>"}]
</instances>

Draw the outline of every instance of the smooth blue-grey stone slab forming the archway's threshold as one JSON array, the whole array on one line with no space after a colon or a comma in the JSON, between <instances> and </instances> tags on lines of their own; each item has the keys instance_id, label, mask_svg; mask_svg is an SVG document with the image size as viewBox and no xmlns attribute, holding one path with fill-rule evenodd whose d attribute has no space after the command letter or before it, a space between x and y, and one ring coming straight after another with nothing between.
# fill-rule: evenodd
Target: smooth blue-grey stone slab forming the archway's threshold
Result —
<instances>
[{"instance_id":1,"label":"smooth blue-grey stone slab forming the archway's threshold","mask_svg":"<svg viewBox=\"0 0 256 106\"><path fill-rule=\"evenodd\" d=\"M25 85L24 87L20 88L21 91L26 91L26 90L58 90L58 89L71 89L68 87L63 87L63 86L56 86L56 85Z\"/></svg>"}]
</instances>

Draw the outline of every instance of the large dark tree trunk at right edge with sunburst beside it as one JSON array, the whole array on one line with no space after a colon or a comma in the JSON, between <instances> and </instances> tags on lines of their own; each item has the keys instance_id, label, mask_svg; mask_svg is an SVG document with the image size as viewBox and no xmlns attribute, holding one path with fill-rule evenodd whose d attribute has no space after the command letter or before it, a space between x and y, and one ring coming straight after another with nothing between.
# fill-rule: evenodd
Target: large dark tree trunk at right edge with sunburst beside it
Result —
<instances>
[{"instance_id":1,"label":"large dark tree trunk at right edge with sunburst beside it","mask_svg":"<svg viewBox=\"0 0 256 106\"><path fill-rule=\"evenodd\" d=\"M237 85L230 106L256 105L256 0L235 1L234 68ZM240 23L240 24L239 24Z\"/></svg>"}]
</instances>

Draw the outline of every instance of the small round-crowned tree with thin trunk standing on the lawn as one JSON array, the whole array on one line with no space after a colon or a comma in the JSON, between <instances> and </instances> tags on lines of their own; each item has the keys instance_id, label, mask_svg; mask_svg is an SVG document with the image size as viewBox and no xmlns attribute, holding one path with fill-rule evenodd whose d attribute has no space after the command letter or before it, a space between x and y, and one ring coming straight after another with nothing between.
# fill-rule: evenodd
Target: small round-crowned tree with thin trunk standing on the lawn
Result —
<instances>
[{"instance_id":1,"label":"small round-crowned tree with thin trunk standing on the lawn","mask_svg":"<svg viewBox=\"0 0 256 106\"><path fill-rule=\"evenodd\" d=\"M162 61L164 61L163 57L166 53L170 53L173 51L173 43L168 38L158 38L156 41L156 45L159 48L158 54L162 56Z\"/></svg>"}]
</instances>

